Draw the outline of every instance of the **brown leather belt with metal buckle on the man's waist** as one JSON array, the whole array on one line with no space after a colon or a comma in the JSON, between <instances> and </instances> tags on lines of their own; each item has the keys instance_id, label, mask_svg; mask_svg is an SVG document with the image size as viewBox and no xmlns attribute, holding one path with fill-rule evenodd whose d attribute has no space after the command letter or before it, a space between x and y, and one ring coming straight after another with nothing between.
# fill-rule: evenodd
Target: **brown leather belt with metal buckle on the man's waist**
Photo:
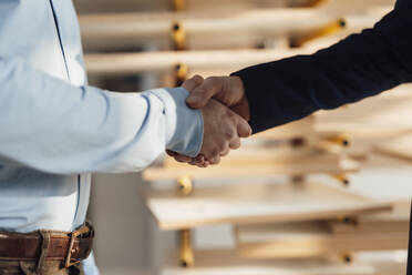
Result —
<instances>
[{"instance_id":1,"label":"brown leather belt with metal buckle on the man's waist","mask_svg":"<svg viewBox=\"0 0 412 275\"><path fill-rule=\"evenodd\" d=\"M44 248L40 232L0 232L0 258L37 261ZM64 261L65 267L69 267L85 259L92 251L94 231L90 225L69 233L44 232L50 234L45 259Z\"/></svg>"}]
</instances>

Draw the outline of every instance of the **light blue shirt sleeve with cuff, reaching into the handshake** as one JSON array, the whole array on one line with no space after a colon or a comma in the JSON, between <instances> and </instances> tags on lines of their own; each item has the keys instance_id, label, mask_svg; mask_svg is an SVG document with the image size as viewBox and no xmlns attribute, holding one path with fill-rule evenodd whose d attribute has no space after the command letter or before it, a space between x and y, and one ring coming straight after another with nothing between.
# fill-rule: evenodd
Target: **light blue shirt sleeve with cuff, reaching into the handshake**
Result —
<instances>
[{"instance_id":1,"label":"light blue shirt sleeve with cuff, reaching into the handshake","mask_svg":"<svg viewBox=\"0 0 412 275\"><path fill-rule=\"evenodd\" d=\"M0 58L0 162L71 174L140 171L165 149L195 156L203 118L187 95L183 88L78 88Z\"/></svg>"}]
</instances>

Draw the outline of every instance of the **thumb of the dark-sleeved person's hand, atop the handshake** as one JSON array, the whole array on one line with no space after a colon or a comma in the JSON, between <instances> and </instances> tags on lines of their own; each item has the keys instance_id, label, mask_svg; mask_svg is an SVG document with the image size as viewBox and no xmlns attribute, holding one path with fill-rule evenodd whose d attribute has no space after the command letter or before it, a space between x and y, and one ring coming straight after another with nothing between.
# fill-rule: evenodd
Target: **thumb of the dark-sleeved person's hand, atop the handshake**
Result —
<instances>
[{"instance_id":1,"label":"thumb of the dark-sleeved person's hand, atop the handshake","mask_svg":"<svg viewBox=\"0 0 412 275\"><path fill-rule=\"evenodd\" d=\"M222 91L220 78L208 78L200 85L198 85L189 96L186 99L188 106L194 109L204 108L207 102L217 93Z\"/></svg>"}]
</instances>

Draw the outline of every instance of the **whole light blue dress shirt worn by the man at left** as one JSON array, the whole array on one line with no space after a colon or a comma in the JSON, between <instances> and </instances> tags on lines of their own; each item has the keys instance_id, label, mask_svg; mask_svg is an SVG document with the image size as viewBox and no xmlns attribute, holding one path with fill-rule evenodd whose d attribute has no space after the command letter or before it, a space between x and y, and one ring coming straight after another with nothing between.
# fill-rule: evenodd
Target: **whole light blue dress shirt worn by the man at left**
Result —
<instances>
[{"instance_id":1,"label":"whole light blue dress shirt worn by the man at left","mask_svg":"<svg viewBox=\"0 0 412 275\"><path fill-rule=\"evenodd\" d=\"M187 94L87 86L71 0L0 0L0 230L73 231L91 172L140 171L165 147L197 155ZM92 258L85 269L97 274Z\"/></svg>"}]
</instances>

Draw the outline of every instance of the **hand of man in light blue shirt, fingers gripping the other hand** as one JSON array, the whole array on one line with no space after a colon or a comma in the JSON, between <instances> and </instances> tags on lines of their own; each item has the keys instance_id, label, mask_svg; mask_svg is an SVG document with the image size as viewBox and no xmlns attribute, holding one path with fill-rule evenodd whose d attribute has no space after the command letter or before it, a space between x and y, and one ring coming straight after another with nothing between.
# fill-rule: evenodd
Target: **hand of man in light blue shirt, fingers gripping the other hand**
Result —
<instances>
[{"instance_id":1,"label":"hand of man in light blue shirt, fingers gripping the other hand","mask_svg":"<svg viewBox=\"0 0 412 275\"><path fill-rule=\"evenodd\" d=\"M185 81L182 86L194 91L203 81L202 77L196 75ZM192 159L172 151L167 151L167 154L178 162L205 167L219 163L220 156L227 155L230 149L238 149L240 138L249 136L251 129L245 119L216 100L202 99L197 106L202 106L204 119L204 139L199 155Z\"/></svg>"}]
</instances>

